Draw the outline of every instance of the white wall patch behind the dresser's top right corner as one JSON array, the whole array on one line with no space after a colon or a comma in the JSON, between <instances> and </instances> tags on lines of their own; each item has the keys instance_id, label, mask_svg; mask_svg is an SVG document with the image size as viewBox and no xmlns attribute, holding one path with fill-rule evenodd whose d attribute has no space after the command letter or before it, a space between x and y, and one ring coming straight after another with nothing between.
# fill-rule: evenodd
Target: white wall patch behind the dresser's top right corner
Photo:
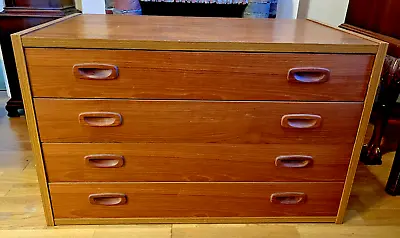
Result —
<instances>
[{"instance_id":1,"label":"white wall patch behind the dresser's top right corner","mask_svg":"<svg viewBox=\"0 0 400 238\"><path fill-rule=\"evenodd\" d=\"M349 0L300 0L298 18L338 26L344 22Z\"/></svg>"}]
</instances>

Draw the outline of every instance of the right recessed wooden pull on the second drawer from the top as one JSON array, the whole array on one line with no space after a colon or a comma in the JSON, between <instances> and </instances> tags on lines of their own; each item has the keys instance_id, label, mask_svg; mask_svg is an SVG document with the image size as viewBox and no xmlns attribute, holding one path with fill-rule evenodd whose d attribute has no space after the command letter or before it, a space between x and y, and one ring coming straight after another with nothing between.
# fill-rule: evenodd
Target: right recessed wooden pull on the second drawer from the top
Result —
<instances>
[{"instance_id":1,"label":"right recessed wooden pull on the second drawer from the top","mask_svg":"<svg viewBox=\"0 0 400 238\"><path fill-rule=\"evenodd\" d=\"M281 119L281 126L284 128L309 129L321 125L321 116L312 114L288 114Z\"/></svg>"}]
</instances>

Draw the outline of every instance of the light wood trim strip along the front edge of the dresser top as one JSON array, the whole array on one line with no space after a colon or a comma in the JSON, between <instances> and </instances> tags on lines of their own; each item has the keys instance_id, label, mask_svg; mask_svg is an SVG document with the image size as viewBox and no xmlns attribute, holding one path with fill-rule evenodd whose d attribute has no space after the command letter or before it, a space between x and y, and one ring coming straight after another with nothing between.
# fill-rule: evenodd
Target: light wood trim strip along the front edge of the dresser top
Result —
<instances>
[{"instance_id":1,"label":"light wood trim strip along the front edge of the dresser top","mask_svg":"<svg viewBox=\"0 0 400 238\"><path fill-rule=\"evenodd\" d=\"M22 38L25 47L84 48L84 49L136 49L136 50L188 50L188 51L238 51L238 52L295 52L295 53L355 53L376 54L376 45L321 45L293 43L193 43L59 38Z\"/></svg>"}]
</instances>

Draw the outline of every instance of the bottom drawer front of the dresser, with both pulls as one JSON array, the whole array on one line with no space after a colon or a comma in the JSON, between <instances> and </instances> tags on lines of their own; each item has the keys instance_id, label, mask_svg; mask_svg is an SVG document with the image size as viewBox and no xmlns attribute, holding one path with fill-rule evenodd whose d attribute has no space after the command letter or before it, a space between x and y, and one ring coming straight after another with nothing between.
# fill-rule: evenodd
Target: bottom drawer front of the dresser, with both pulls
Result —
<instances>
[{"instance_id":1,"label":"bottom drawer front of the dresser, with both pulls","mask_svg":"<svg viewBox=\"0 0 400 238\"><path fill-rule=\"evenodd\" d=\"M55 218L336 216L343 183L50 183Z\"/></svg>"}]
</instances>

